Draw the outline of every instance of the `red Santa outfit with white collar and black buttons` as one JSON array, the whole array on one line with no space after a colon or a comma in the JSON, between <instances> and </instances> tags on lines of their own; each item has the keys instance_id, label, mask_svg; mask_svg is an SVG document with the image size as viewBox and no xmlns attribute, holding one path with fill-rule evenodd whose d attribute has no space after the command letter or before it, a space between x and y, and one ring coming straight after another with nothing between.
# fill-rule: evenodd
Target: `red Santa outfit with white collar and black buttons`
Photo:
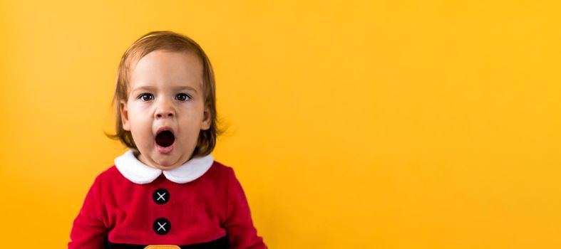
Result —
<instances>
[{"instance_id":1,"label":"red Santa outfit with white collar and black buttons","mask_svg":"<svg viewBox=\"0 0 561 249\"><path fill-rule=\"evenodd\" d=\"M93 182L68 248L267 248L234 170L212 155L162 171L132 150Z\"/></svg>"}]
</instances>

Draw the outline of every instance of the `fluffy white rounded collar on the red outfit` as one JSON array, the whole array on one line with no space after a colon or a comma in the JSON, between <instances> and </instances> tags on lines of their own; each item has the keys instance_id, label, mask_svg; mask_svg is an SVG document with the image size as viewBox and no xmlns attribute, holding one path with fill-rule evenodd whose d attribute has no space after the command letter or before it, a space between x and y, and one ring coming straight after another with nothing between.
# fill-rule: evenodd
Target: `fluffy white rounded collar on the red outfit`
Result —
<instances>
[{"instance_id":1,"label":"fluffy white rounded collar on the red outfit","mask_svg":"<svg viewBox=\"0 0 561 249\"><path fill-rule=\"evenodd\" d=\"M177 184L185 184L205 174L214 161L214 157L208 154L205 157L190 159L175 169L161 170L143 164L135 157L133 150L129 149L125 154L115 158L115 166L120 174L123 174L126 179L135 184L149 184L158 178L162 172L168 180Z\"/></svg>"}]
</instances>

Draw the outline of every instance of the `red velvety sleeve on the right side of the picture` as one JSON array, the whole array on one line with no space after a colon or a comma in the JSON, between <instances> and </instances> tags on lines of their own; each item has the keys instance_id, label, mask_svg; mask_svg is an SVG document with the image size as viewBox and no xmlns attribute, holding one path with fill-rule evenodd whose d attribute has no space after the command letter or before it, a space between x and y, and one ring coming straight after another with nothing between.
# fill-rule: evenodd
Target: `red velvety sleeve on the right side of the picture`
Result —
<instances>
[{"instance_id":1,"label":"red velvety sleeve on the right side of the picture","mask_svg":"<svg viewBox=\"0 0 561 249\"><path fill-rule=\"evenodd\" d=\"M249 204L240 181L230 168L228 179L227 218L224 226L228 235L229 248L267 248L263 238L257 235L253 226Z\"/></svg>"}]
</instances>

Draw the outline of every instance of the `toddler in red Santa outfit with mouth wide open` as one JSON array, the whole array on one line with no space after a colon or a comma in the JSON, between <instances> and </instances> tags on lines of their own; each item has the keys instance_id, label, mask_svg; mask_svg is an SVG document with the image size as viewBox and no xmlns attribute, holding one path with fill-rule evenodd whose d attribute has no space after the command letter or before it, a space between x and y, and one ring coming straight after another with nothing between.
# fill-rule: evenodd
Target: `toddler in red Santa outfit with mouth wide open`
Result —
<instances>
[{"instance_id":1,"label":"toddler in red Santa outfit with mouth wide open","mask_svg":"<svg viewBox=\"0 0 561 249\"><path fill-rule=\"evenodd\" d=\"M128 152L96 177L68 248L267 248L231 167L210 154L215 78L186 36L151 32L120 60L117 130Z\"/></svg>"}]
</instances>

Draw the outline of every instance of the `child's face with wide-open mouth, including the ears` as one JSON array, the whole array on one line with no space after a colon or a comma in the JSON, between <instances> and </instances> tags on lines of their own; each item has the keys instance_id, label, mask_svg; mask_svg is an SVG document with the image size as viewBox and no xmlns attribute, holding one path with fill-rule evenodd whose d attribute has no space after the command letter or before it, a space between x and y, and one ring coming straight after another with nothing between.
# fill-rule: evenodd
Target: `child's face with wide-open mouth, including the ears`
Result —
<instances>
[{"instance_id":1,"label":"child's face with wide-open mouth, including the ears","mask_svg":"<svg viewBox=\"0 0 561 249\"><path fill-rule=\"evenodd\" d=\"M194 53L153 51L132 65L123 129L133 135L138 159L174 169L190 159L201 129L210 128L202 92L202 65ZM170 132L160 132L167 129Z\"/></svg>"}]
</instances>

